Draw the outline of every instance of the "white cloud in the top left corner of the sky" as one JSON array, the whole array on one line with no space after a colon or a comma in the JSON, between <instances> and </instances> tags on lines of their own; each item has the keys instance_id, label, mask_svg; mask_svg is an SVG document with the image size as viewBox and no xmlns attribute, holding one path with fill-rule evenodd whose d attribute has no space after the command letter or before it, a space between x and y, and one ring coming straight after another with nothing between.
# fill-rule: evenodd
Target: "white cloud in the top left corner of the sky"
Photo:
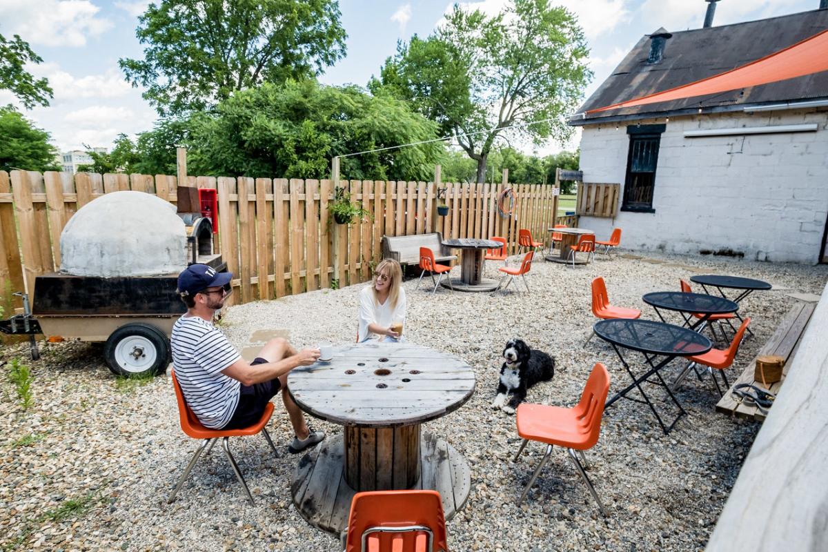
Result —
<instances>
[{"instance_id":1,"label":"white cloud in the top left corner of the sky","mask_svg":"<svg viewBox=\"0 0 828 552\"><path fill-rule=\"evenodd\" d=\"M113 26L99 11L89 0L2 0L0 31L32 46L84 46Z\"/></svg>"}]
</instances>

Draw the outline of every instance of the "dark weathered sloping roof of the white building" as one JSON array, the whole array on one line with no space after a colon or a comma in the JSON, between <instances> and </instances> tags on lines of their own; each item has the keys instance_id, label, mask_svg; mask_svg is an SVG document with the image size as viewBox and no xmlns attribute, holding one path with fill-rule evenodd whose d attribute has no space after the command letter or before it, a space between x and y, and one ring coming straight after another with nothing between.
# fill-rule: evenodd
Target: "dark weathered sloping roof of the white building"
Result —
<instances>
[{"instance_id":1,"label":"dark weathered sloping roof of the white building","mask_svg":"<svg viewBox=\"0 0 828 552\"><path fill-rule=\"evenodd\" d=\"M689 112L697 108L728 108L756 103L828 98L828 71L719 94L681 98L629 108L580 113L689 84L749 64L828 29L828 10L794 13L755 22L678 31L667 40L662 60L647 64L649 36L643 36L604 81L570 124L600 122L606 118L645 118Z\"/></svg>"}]
</instances>

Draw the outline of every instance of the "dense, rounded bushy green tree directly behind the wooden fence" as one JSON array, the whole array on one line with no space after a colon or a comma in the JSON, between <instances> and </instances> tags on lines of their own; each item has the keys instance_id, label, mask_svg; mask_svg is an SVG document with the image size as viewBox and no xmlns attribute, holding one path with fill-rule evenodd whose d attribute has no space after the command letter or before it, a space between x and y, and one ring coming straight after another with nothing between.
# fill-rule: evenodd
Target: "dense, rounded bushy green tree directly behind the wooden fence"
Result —
<instances>
[{"instance_id":1,"label":"dense, rounded bushy green tree directly behind the wooden fence","mask_svg":"<svg viewBox=\"0 0 828 552\"><path fill-rule=\"evenodd\" d=\"M214 113L194 114L183 140L191 172L200 175L328 178L331 157L389 147L342 157L340 175L428 180L445 155L442 142L392 146L434 139L436 129L388 94L309 79L236 92Z\"/></svg>"}]
</instances>

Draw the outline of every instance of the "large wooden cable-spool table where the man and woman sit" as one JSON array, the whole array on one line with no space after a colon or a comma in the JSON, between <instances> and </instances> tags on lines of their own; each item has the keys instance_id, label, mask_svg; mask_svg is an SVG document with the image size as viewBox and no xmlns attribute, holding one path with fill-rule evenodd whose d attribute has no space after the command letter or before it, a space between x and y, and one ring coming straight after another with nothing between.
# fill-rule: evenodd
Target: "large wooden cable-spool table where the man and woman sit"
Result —
<instances>
[{"instance_id":1,"label":"large wooden cable-spool table where the man and woman sit","mask_svg":"<svg viewBox=\"0 0 828 552\"><path fill-rule=\"evenodd\" d=\"M287 386L302 410L344 425L293 475L293 503L310 525L339 535L359 491L434 489L446 519L465 506L469 465L421 424L471 398L467 362L413 343L340 345L330 362L291 371Z\"/></svg>"}]
</instances>

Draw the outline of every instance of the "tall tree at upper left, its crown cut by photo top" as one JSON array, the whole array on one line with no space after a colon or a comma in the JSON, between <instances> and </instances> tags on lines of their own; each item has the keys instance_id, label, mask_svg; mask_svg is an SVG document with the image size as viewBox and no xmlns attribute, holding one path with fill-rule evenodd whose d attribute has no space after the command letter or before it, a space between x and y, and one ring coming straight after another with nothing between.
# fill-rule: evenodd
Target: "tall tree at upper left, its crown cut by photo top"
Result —
<instances>
[{"instance_id":1,"label":"tall tree at upper left, its crown cut by photo top","mask_svg":"<svg viewBox=\"0 0 828 552\"><path fill-rule=\"evenodd\" d=\"M162 116L234 90L320 74L344 56L337 0L160 0L139 17L144 60L118 61Z\"/></svg>"}]
</instances>

